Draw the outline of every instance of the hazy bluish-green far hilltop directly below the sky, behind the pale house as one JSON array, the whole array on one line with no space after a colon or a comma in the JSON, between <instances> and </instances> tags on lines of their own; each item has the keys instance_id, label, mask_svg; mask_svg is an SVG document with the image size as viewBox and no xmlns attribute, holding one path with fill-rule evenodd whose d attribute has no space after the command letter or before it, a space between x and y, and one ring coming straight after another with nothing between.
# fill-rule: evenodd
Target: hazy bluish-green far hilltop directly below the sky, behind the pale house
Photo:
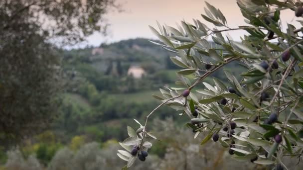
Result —
<instances>
[{"instance_id":1,"label":"hazy bluish-green far hilltop directly below the sky, behind the pale house","mask_svg":"<svg viewBox=\"0 0 303 170\"><path fill-rule=\"evenodd\" d=\"M152 40L160 43L159 41ZM152 62L164 68L165 60L172 53L149 41L137 38L123 40L112 44L101 44L99 47L89 47L64 51L64 57L90 63L98 71L106 71L110 63L121 61L123 65L141 65Z\"/></svg>"}]
</instances>

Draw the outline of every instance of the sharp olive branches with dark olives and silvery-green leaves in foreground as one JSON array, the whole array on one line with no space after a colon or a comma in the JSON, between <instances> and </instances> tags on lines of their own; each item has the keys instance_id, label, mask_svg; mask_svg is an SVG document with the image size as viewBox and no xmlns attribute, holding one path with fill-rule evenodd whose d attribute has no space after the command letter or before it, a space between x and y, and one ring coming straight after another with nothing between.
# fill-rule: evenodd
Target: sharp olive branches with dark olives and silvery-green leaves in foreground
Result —
<instances>
[{"instance_id":1,"label":"sharp olive branches with dark olives and silvery-green leaves in foreground","mask_svg":"<svg viewBox=\"0 0 303 170\"><path fill-rule=\"evenodd\" d=\"M121 146L118 156L128 161L124 169L133 165L137 157L145 161L156 137L147 131L149 117L163 105L186 114L186 124L195 132L206 134L201 145L210 139L229 148L229 154L238 161L251 161L276 169L287 169L284 156L301 160L303 153L303 39L302 30L288 24L281 30L281 10L294 10L302 17L302 3L294 0L237 0L249 26L230 28L221 11L206 2L202 17L217 27L209 28L199 20L194 24L182 21L173 28L158 24L152 32L163 42L155 43L176 53L171 60L183 68L177 74L176 85L160 89L163 96L155 96L162 103L147 116L144 125L135 131L128 127L130 138ZM302 20L298 20L303 25ZM241 42L224 37L222 33L245 30L249 35ZM267 33L264 32L267 30ZM207 38L211 37L213 43ZM245 68L232 75L224 70L228 82L213 78L213 84L203 82L226 64L237 62ZM194 75L195 82L185 77ZM194 87L202 84L204 89Z\"/></svg>"}]
</instances>

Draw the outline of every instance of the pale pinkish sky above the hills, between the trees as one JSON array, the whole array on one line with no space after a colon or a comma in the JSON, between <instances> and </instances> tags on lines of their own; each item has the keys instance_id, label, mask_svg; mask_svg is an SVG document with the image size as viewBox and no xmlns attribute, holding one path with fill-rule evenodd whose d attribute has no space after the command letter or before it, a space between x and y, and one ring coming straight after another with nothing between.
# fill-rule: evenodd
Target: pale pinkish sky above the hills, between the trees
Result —
<instances>
[{"instance_id":1,"label":"pale pinkish sky above the hills, between the trees","mask_svg":"<svg viewBox=\"0 0 303 170\"><path fill-rule=\"evenodd\" d=\"M244 17L236 3L236 0L206 0L210 4L219 8L227 19L229 27L235 28L239 25L245 25ZM205 14L204 0L118 0L123 5L125 10L122 13L110 12L107 14L110 35L103 37L98 33L88 38L88 44L98 46L102 42L117 42L129 38L152 38L156 37L152 34L149 25L156 27L156 20L160 24L167 24L169 26L176 26L176 22L181 20L192 23L192 18L199 19L209 27L213 25L206 22L201 13ZM286 21L298 19L294 17L294 11L285 10L281 12L283 25L285 27ZM299 24L295 24L299 26ZM219 27L220 29L220 27ZM285 28L284 28L285 29ZM239 36L243 35L243 31L232 31L229 34L235 39L239 40Z\"/></svg>"}]
</instances>

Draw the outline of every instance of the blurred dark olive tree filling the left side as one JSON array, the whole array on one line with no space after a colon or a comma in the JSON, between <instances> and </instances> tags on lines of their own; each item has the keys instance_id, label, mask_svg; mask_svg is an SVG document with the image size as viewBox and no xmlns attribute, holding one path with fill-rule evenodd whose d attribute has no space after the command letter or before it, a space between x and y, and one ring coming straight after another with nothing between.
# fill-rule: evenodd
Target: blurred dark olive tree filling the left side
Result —
<instances>
[{"instance_id":1,"label":"blurred dark olive tree filling the left side","mask_svg":"<svg viewBox=\"0 0 303 170\"><path fill-rule=\"evenodd\" d=\"M2 144L49 124L64 84L56 46L106 33L110 7L118 7L115 0L0 1Z\"/></svg>"}]
</instances>

